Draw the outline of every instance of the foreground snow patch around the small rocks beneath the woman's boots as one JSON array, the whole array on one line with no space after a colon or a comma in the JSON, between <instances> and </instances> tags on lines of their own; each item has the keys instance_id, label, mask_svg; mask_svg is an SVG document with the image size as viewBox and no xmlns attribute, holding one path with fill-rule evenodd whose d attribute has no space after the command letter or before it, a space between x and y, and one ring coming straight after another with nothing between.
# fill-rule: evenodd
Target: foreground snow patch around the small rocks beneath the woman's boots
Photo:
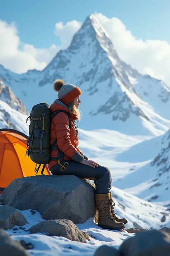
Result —
<instances>
[{"instance_id":1,"label":"foreground snow patch around the small rocks beneath the woman's boots","mask_svg":"<svg viewBox=\"0 0 170 256\"><path fill-rule=\"evenodd\" d=\"M1 206L0 206L1 207ZM25 224L25 230L28 230L31 226L36 225L40 221L43 221L39 212L31 215L30 210L21 211L25 216L29 224ZM80 230L84 230L93 237L89 237L90 241L86 240L86 243L80 243L70 241L64 237L49 237L44 234L29 234L29 231L19 230L13 231L13 229L6 231L8 234L13 236L15 240L24 239L26 243L32 243L33 250L28 250L30 255L41 255L41 256L62 256L62 255L84 255L93 256L95 250L103 245L108 244L118 248L118 246L128 237L132 237L133 234L128 234L127 231L110 231L99 228L90 218L86 223L79 224L77 227ZM15 233L16 232L16 233Z\"/></svg>"}]
</instances>

